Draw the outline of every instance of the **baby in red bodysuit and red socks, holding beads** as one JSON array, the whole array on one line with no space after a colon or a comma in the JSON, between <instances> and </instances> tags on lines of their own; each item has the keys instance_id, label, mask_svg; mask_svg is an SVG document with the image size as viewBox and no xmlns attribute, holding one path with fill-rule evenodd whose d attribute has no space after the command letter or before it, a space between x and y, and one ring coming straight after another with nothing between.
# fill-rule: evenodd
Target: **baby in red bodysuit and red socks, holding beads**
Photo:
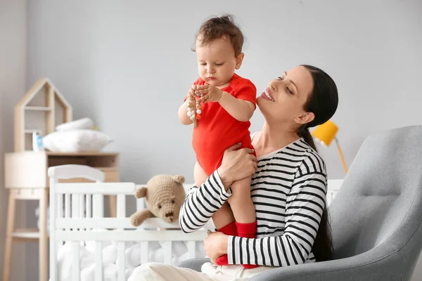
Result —
<instances>
[{"instance_id":1,"label":"baby in red bodysuit and red socks, holding beads","mask_svg":"<svg viewBox=\"0 0 422 281\"><path fill-rule=\"evenodd\" d=\"M235 73L245 56L242 47L243 34L229 15L205 21L196 35L193 51L200 77L179 107L179 119L182 124L194 124L194 179L198 187L222 164L224 150L236 143L252 148L249 120L256 107L256 87ZM217 231L255 237L257 223L250 181L251 177L245 178L231 186L230 207L225 203L212 216ZM220 256L216 263L227 265L227 255Z\"/></svg>"}]
</instances>

